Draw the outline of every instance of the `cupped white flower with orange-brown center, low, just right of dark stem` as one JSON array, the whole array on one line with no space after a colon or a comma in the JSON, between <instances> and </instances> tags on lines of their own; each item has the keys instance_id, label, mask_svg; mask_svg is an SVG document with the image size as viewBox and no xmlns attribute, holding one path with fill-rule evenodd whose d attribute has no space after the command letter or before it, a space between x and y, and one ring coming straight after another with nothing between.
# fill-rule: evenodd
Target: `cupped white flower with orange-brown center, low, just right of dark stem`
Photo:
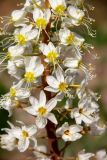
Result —
<instances>
[{"instance_id":1,"label":"cupped white flower with orange-brown center, low, just right of dark stem","mask_svg":"<svg viewBox=\"0 0 107 160\"><path fill-rule=\"evenodd\" d=\"M68 125L68 123L64 123L62 127L56 130L56 135L62 136L64 141L76 141L82 137L81 131L82 127L79 125Z\"/></svg>"}]
</instances>

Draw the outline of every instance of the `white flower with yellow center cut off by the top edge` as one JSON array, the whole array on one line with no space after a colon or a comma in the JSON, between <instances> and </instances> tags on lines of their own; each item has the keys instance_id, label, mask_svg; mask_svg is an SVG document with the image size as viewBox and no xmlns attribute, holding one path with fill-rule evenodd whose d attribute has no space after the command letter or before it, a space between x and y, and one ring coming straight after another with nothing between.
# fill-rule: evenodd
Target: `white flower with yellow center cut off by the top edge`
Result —
<instances>
[{"instance_id":1,"label":"white flower with yellow center cut off by the top edge","mask_svg":"<svg viewBox=\"0 0 107 160\"><path fill-rule=\"evenodd\" d=\"M54 11L58 15L63 15L66 10L66 1L65 0L49 0L49 3Z\"/></svg>"}]
</instances>

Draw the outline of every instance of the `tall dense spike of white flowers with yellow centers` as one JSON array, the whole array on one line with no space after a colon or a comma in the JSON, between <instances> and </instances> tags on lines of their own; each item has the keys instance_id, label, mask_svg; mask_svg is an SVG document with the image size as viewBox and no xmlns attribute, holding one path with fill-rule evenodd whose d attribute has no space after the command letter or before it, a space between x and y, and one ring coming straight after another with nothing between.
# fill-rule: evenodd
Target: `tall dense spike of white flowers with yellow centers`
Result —
<instances>
[{"instance_id":1,"label":"tall dense spike of white flowers with yellow centers","mask_svg":"<svg viewBox=\"0 0 107 160\"><path fill-rule=\"evenodd\" d=\"M47 151L38 141L43 128L47 130L46 141L62 138L65 143L84 134L104 132L98 96L88 89L93 68L84 61L84 51L90 53L92 46L78 34L82 26L94 36L92 21L83 0L26 0L22 9L12 12L5 28L13 25L15 29L5 43L0 67L6 66L14 83L1 97L0 106L9 116L20 107L35 117L35 124L26 126L20 122L19 127L9 122L11 128L1 135L2 148L24 152L33 141L37 159L52 159L58 152L53 146ZM32 90L36 95L40 92L39 98ZM78 160L91 156L81 152Z\"/></svg>"}]
</instances>

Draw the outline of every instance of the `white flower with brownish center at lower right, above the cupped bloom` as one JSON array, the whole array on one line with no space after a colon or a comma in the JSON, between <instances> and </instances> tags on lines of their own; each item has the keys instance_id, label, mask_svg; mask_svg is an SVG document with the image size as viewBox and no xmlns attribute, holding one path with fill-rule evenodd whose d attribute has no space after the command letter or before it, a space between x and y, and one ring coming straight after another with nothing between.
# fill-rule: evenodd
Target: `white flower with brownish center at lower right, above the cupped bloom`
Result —
<instances>
[{"instance_id":1,"label":"white flower with brownish center at lower right, above the cupped bloom","mask_svg":"<svg viewBox=\"0 0 107 160\"><path fill-rule=\"evenodd\" d=\"M75 118L77 124L84 122L89 125L95 121L96 111L96 108L91 106L91 101L84 97L79 101L78 108L71 111L71 118Z\"/></svg>"}]
</instances>

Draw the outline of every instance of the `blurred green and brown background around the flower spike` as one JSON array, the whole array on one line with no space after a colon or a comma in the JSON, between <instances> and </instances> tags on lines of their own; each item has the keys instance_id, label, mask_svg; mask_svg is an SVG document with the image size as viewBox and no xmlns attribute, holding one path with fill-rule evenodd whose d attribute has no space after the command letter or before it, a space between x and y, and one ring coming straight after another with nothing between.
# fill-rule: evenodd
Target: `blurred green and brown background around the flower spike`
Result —
<instances>
[{"instance_id":1,"label":"blurred green and brown background around the flower spike","mask_svg":"<svg viewBox=\"0 0 107 160\"><path fill-rule=\"evenodd\" d=\"M0 16L8 16L17 8L17 3L21 0L0 0ZM89 42L95 46L96 52L100 59L95 61L97 77L91 82L90 87L101 94L99 101L101 117L107 121L107 0L90 0L95 6L92 13L96 19L94 27L97 30L96 38L89 38ZM94 54L94 53L93 53ZM0 73L0 95L6 93L11 85L10 77L7 73ZM15 114L17 115L17 113ZM17 115L18 117L19 115ZM21 115L20 115L21 116ZM8 113L0 111L0 128L6 127ZM29 121L29 120L28 120ZM73 147L72 147L73 146ZM80 141L75 142L68 150L73 153L77 150L86 148L87 151L96 151L99 149L107 149L107 133L100 137L85 136ZM28 153L6 152L0 150L0 160L22 160L27 157Z\"/></svg>"}]
</instances>

